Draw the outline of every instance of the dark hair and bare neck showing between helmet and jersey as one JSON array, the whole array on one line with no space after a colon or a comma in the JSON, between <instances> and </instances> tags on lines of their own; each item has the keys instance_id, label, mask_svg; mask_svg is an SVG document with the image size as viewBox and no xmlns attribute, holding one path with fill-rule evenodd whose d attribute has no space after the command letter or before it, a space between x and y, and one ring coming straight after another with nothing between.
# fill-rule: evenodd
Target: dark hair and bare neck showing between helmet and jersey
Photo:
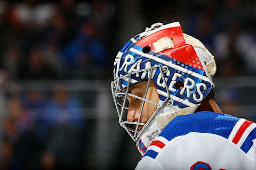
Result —
<instances>
[{"instance_id":1,"label":"dark hair and bare neck showing between helmet and jersey","mask_svg":"<svg viewBox=\"0 0 256 170\"><path fill-rule=\"evenodd\" d=\"M211 90L209 92L209 95L207 95L207 97L204 99L201 105L196 109L196 112L210 111L222 113L220 107L217 105L215 101L215 95L215 92Z\"/></svg>"}]
</instances>

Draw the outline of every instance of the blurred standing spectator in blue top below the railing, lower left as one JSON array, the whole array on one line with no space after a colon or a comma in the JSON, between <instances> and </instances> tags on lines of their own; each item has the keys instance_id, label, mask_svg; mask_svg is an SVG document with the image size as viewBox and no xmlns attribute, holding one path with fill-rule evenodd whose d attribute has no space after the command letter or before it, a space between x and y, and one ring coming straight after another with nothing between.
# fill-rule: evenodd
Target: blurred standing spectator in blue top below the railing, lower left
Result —
<instances>
[{"instance_id":1,"label":"blurred standing spectator in blue top below the railing, lower left","mask_svg":"<svg viewBox=\"0 0 256 170\"><path fill-rule=\"evenodd\" d=\"M53 99L45 107L42 116L45 128L49 132L45 138L45 151L41 156L44 167L51 168L57 160L65 165L63 168L74 168L81 157L83 140L81 132L83 129L83 114L81 102L68 94L64 85L55 88ZM67 138L68 136L68 138Z\"/></svg>"}]
</instances>

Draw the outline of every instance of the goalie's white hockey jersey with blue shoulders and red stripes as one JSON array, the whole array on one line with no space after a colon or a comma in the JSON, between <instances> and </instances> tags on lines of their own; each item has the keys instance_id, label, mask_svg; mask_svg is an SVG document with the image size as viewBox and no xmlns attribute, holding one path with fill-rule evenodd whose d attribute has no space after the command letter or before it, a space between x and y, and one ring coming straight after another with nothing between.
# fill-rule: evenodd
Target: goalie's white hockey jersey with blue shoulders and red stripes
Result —
<instances>
[{"instance_id":1,"label":"goalie's white hockey jersey with blue shoulders and red stripes","mask_svg":"<svg viewBox=\"0 0 256 170\"><path fill-rule=\"evenodd\" d=\"M214 112L175 117L135 169L256 169L256 124Z\"/></svg>"}]
</instances>

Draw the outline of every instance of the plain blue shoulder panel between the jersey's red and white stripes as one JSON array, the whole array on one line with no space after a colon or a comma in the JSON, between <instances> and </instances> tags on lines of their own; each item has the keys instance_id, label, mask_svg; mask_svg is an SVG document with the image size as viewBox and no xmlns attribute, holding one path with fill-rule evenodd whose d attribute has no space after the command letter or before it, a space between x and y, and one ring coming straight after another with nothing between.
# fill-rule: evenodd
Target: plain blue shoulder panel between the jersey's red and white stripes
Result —
<instances>
[{"instance_id":1,"label":"plain blue shoulder panel between the jersey's red and white stripes","mask_svg":"<svg viewBox=\"0 0 256 170\"><path fill-rule=\"evenodd\" d=\"M175 117L159 134L167 140L190 132L212 133L228 138L241 118L223 113L197 112Z\"/></svg>"}]
</instances>

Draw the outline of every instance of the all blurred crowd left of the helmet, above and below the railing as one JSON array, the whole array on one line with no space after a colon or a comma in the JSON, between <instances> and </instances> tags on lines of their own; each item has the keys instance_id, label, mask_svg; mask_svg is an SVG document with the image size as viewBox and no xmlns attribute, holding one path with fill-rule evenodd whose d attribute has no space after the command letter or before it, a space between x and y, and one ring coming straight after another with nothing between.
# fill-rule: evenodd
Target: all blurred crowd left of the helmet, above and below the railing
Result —
<instances>
[{"instance_id":1,"label":"all blurred crowd left of the helmet, above and below the railing","mask_svg":"<svg viewBox=\"0 0 256 170\"><path fill-rule=\"evenodd\" d=\"M109 79L114 26L115 5L105 1L0 1L0 169L82 168L87 124L81 98L65 84L50 94L5 86Z\"/></svg>"}]
</instances>

